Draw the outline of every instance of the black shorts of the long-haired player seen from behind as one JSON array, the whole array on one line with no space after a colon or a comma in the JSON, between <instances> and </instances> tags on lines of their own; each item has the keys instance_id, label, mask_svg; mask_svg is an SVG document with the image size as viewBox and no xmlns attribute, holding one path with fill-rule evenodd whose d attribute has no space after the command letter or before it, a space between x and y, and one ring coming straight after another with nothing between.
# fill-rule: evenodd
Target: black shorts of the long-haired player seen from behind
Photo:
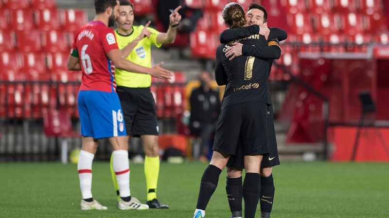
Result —
<instances>
[{"instance_id":1,"label":"black shorts of the long-haired player seen from behind","mask_svg":"<svg viewBox=\"0 0 389 218\"><path fill-rule=\"evenodd\" d=\"M243 155L268 154L266 108L263 102L245 102L222 109L213 150L233 155L240 144Z\"/></svg>"}]
</instances>

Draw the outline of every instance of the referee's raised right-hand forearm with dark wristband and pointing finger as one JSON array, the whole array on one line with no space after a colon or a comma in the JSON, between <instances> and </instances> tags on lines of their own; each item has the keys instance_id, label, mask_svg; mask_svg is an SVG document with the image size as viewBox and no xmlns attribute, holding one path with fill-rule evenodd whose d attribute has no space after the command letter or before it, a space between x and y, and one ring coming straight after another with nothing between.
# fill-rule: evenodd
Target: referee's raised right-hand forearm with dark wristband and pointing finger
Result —
<instances>
[{"instance_id":1,"label":"referee's raised right-hand forearm with dark wristband and pointing finger","mask_svg":"<svg viewBox=\"0 0 389 218\"><path fill-rule=\"evenodd\" d=\"M169 19L170 19L169 29L166 31L166 33L160 33L157 36L157 43L161 43L161 44L173 43L176 40L177 27L178 27L179 21L181 20L181 15L178 14L179 9L181 9L181 6L178 6L170 14L170 16L169 16Z\"/></svg>"}]
</instances>

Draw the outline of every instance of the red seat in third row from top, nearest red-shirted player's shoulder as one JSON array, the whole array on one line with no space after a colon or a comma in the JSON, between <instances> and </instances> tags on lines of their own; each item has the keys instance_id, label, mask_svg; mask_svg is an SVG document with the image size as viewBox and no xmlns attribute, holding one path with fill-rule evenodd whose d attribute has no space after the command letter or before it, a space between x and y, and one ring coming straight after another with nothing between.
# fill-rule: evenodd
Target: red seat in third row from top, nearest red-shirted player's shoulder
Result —
<instances>
[{"instance_id":1,"label":"red seat in third row from top, nearest red-shirted player's shoulder","mask_svg":"<svg viewBox=\"0 0 389 218\"><path fill-rule=\"evenodd\" d=\"M67 35L60 30L50 30L42 34L42 46L45 52L70 52Z\"/></svg>"}]
</instances>

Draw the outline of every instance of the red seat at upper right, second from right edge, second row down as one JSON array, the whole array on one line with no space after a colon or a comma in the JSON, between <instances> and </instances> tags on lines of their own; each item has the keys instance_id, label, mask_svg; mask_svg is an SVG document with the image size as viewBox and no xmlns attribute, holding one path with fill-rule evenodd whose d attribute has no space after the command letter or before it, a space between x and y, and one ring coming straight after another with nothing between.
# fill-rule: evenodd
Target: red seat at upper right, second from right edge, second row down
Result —
<instances>
[{"instance_id":1,"label":"red seat at upper right, second from right edge, second row down","mask_svg":"<svg viewBox=\"0 0 389 218\"><path fill-rule=\"evenodd\" d=\"M341 31L344 34L348 35L355 35L357 33L363 33L365 31L364 20L361 14L342 14L340 16L340 25Z\"/></svg>"}]
</instances>

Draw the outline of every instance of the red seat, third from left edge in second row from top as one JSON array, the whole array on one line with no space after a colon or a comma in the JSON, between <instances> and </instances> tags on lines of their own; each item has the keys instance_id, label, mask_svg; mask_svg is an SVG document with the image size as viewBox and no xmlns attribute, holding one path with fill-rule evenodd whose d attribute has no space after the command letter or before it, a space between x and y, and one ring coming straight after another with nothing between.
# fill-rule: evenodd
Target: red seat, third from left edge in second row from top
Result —
<instances>
[{"instance_id":1,"label":"red seat, third from left edge in second row from top","mask_svg":"<svg viewBox=\"0 0 389 218\"><path fill-rule=\"evenodd\" d=\"M35 24L38 29L43 31L59 30L61 21L57 9L42 9L35 11Z\"/></svg>"}]
</instances>

